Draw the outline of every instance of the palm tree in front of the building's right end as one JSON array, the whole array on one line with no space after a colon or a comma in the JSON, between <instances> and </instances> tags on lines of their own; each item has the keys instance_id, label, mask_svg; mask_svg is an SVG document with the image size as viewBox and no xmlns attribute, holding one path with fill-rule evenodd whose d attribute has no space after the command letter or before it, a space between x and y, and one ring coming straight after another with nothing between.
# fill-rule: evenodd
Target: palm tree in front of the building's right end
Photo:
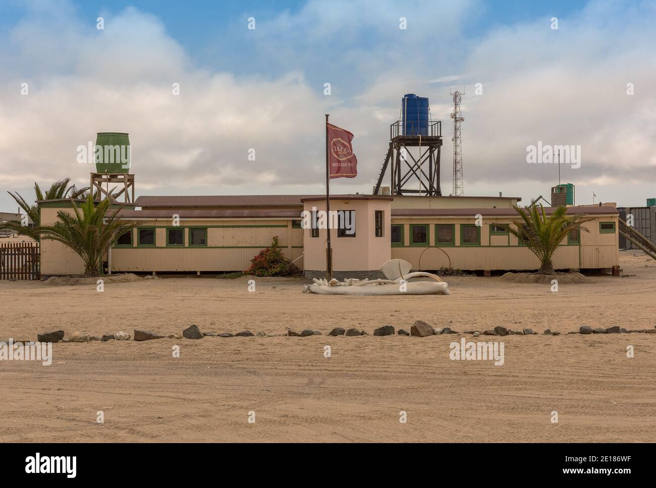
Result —
<instances>
[{"instance_id":1,"label":"palm tree in front of the building's right end","mask_svg":"<svg viewBox=\"0 0 656 488\"><path fill-rule=\"evenodd\" d=\"M499 226L517 237L538 257L540 260L539 274L553 274L552 256L562 240L573 230L590 232L583 227L583 224L592 218L584 218L582 215L567 216L567 207L564 206L556 207L550 216L546 216L542 203L539 205L539 211L537 205L531 205L524 209L513 205L512 208L520 214L521 219L513 220L512 224L493 225Z\"/></svg>"}]
</instances>

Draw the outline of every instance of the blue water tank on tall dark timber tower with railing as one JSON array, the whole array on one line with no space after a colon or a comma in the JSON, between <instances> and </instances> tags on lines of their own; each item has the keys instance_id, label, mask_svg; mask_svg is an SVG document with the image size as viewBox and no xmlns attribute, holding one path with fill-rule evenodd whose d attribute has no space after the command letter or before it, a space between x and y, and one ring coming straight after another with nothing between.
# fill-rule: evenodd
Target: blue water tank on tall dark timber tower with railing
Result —
<instances>
[{"instance_id":1,"label":"blue water tank on tall dark timber tower with railing","mask_svg":"<svg viewBox=\"0 0 656 488\"><path fill-rule=\"evenodd\" d=\"M399 118L390 125L390 146L374 194L380 192L383 177L390 166L392 195L441 196L441 122L431 120L428 98L414 93L403 96Z\"/></svg>"}]
</instances>

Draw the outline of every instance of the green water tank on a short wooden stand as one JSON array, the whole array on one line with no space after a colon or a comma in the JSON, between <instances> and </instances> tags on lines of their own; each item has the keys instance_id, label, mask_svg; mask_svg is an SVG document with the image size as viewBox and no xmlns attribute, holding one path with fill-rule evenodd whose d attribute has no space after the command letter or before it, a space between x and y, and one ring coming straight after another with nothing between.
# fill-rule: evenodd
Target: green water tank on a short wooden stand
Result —
<instances>
[{"instance_id":1,"label":"green water tank on a short wooden stand","mask_svg":"<svg viewBox=\"0 0 656 488\"><path fill-rule=\"evenodd\" d=\"M134 174L130 173L132 148L125 132L98 132L94 148L96 173L91 173L91 192L100 200L134 203ZM120 188L120 190L118 190ZM118 190L118 191L116 191Z\"/></svg>"}]
</instances>

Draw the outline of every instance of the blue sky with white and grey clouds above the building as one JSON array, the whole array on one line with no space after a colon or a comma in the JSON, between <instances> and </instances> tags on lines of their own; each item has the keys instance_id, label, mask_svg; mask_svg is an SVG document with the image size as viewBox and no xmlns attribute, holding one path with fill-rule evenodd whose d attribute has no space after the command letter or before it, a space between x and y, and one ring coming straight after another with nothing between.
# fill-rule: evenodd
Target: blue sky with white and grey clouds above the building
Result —
<instances>
[{"instance_id":1,"label":"blue sky with white and grey clouds above the building","mask_svg":"<svg viewBox=\"0 0 656 488\"><path fill-rule=\"evenodd\" d=\"M443 121L448 195L454 87L465 195L548 199L558 165L526 161L542 141L581 147L561 165L577 203L645 205L656 3L540 3L0 0L0 211L35 181L88 184L77 148L103 131L129 132L139 195L321 193L324 113L358 156L333 192L371 192L410 92Z\"/></svg>"}]
</instances>

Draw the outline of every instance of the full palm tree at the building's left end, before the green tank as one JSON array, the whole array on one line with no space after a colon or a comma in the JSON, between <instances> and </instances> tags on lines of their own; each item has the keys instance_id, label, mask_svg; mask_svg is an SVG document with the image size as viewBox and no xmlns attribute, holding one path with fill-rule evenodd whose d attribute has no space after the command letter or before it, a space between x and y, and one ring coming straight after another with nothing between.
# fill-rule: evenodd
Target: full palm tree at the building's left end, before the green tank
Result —
<instances>
[{"instance_id":1,"label":"full palm tree at the building's left end, before the green tank","mask_svg":"<svg viewBox=\"0 0 656 488\"><path fill-rule=\"evenodd\" d=\"M41 234L43 239L58 241L73 249L84 262L85 274L97 276L102 274L102 257L105 251L116 243L120 235L131 230L136 224L119 220L118 211L108 214L112 203L109 199L96 205L89 194L79 207L73 199L71 203L74 215L59 211L57 217L60 222L52 226L39 226L36 232Z\"/></svg>"}]
</instances>

